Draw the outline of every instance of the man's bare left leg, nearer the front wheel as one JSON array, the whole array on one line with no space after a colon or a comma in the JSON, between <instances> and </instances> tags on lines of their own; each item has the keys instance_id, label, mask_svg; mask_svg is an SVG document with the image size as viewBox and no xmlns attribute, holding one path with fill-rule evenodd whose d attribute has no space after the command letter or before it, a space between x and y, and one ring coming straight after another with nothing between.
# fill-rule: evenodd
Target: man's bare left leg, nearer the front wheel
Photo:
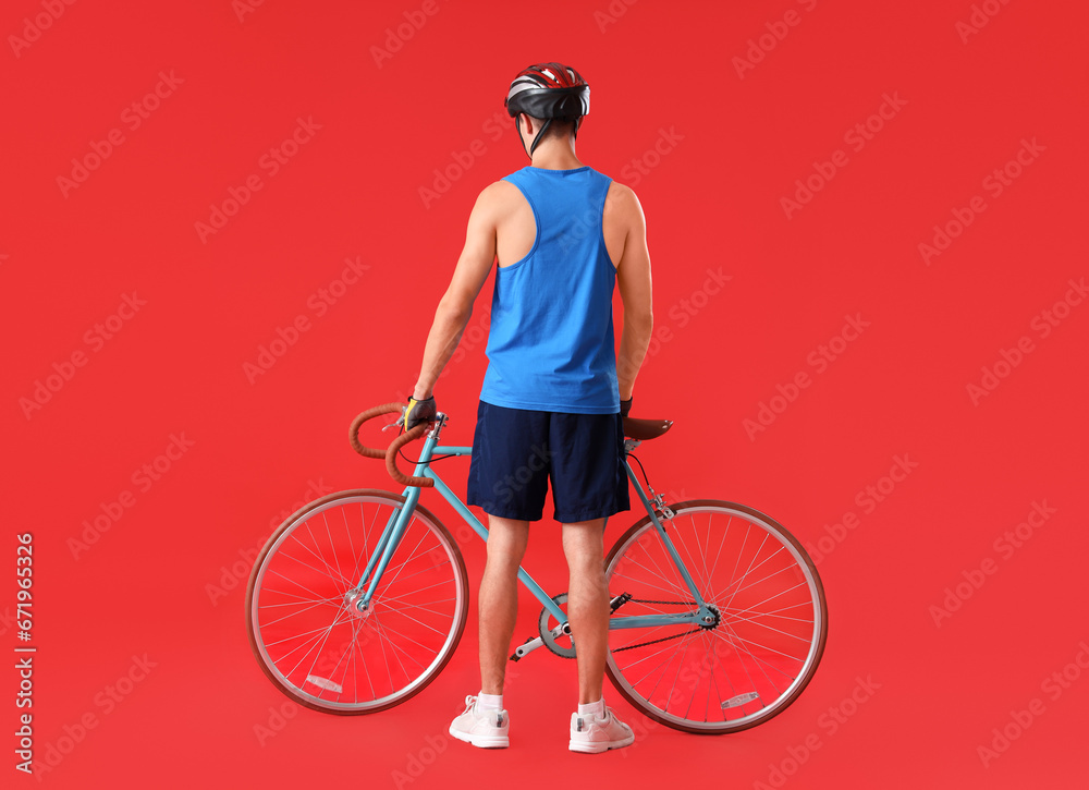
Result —
<instances>
[{"instance_id":1,"label":"man's bare left leg, nearer the front wheel","mask_svg":"<svg viewBox=\"0 0 1089 790\"><path fill-rule=\"evenodd\" d=\"M480 691L485 694L503 693L518 616L518 566L528 542L528 521L488 516L488 561L480 580Z\"/></svg>"}]
</instances>

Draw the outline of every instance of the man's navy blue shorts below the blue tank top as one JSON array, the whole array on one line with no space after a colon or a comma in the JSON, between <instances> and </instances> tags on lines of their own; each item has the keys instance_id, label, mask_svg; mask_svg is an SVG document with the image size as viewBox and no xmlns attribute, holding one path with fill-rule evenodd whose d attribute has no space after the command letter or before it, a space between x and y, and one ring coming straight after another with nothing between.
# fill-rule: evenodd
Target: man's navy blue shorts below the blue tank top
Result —
<instances>
[{"instance_id":1,"label":"man's navy blue shorts below the blue tank top","mask_svg":"<svg viewBox=\"0 0 1089 790\"><path fill-rule=\"evenodd\" d=\"M502 519L540 521L549 479L561 524L628 510L620 414L538 412L480 401L468 503Z\"/></svg>"}]
</instances>

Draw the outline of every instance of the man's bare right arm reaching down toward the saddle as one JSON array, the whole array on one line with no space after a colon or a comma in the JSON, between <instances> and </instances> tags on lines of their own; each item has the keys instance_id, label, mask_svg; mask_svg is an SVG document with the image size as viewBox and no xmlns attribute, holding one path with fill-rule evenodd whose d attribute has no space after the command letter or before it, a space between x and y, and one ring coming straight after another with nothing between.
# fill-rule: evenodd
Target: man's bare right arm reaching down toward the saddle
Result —
<instances>
[{"instance_id":1,"label":"man's bare right arm reaching down toward the saddle","mask_svg":"<svg viewBox=\"0 0 1089 790\"><path fill-rule=\"evenodd\" d=\"M624 186L617 191L617 215L627 234L624 252L616 265L616 284L624 303L624 331L616 354L620 399L626 401L635 389L635 378L643 367L654 326L650 251L647 248L647 220L635 193Z\"/></svg>"}]
</instances>

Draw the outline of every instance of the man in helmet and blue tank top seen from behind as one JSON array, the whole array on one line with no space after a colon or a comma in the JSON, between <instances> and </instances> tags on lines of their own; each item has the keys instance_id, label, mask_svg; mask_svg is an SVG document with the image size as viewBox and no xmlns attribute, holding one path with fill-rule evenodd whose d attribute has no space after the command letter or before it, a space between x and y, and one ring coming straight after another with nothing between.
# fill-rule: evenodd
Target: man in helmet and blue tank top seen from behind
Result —
<instances>
[{"instance_id":1,"label":"man in helmet and blue tank top seen from behind","mask_svg":"<svg viewBox=\"0 0 1089 790\"><path fill-rule=\"evenodd\" d=\"M480 693L466 697L450 733L477 746L510 743L503 677L517 616L517 570L551 478L578 665L570 749L603 752L634 741L601 694L610 613L603 532L609 515L628 509L622 413L631 409L652 325L646 224L631 189L575 155L589 86L574 69L525 69L505 104L531 165L477 198L405 411L406 428L435 416L435 382L498 260L467 498L489 515ZM619 353L614 285L624 303ZM517 486L510 485L512 473Z\"/></svg>"}]
</instances>

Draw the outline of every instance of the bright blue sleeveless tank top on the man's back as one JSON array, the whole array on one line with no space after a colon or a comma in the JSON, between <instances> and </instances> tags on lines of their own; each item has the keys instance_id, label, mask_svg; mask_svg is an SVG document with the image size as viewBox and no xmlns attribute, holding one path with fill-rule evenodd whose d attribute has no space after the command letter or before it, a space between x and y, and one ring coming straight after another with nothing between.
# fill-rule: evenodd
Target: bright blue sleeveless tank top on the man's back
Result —
<instances>
[{"instance_id":1,"label":"bright blue sleeveless tank top on the man's back","mask_svg":"<svg viewBox=\"0 0 1089 790\"><path fill-rule=\"evenodd\" d=\"M534 211L529 253L495 271L480 400L575 414L620 411L612 293L601 212L612 179L589 167L526 167L505 181Z\"/></svg>"}]
</instances>

